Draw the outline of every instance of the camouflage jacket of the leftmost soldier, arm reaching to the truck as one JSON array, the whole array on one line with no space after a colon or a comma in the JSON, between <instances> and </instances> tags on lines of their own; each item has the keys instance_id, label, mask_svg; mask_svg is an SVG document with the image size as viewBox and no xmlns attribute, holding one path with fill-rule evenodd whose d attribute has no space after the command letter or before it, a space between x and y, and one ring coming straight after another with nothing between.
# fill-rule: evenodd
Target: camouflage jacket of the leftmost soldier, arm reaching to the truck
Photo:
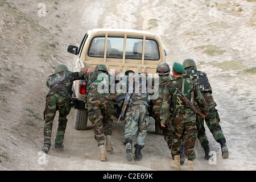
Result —
<instances>
[{"instance_id":1,"label":"camouflage jacket of the leftmost soldier, arm reaching to the truck","mask_svg":"<svg viewBox=\"0 0 256 182\"><path fill-rule=\"evenodd\" d=\"M47 96L57 92L67 94L70 98L72 98L73 81L82 80L84 75L84 72L63 71L49 76L46 81L46 86L50 88Z\"/></svg>"}]
</instances>

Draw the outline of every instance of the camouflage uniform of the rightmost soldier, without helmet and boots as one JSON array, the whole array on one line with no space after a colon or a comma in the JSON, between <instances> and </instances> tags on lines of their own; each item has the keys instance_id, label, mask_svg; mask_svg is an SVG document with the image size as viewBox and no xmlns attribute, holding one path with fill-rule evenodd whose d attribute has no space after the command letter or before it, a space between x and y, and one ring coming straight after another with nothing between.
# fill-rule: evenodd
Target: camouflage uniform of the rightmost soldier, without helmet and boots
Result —
<instances>
[{"instance_id":1,"label":"camouflage uniform of the rightmost soldier, without helmet and boots","mask_svg":"<svg viewBox=\"0 0 256 182\"><path fill-rule=\"evenodd\" d=\"M183 75L184 77L189 77L193 81L196 82L197 87L199 88L200 92L203 94L205 101L208 106L209 115L205 117L205 123L212 133L214 139L218 142L220 139L223 139L226 142L224 134L221 130L221 126L219 124L220 117L218 115L218 111L216 110L216 102L214 102L212 97L212 88L208 81L207 75L204 72L198 71L196 67L189 67L185 69L186 73ZM197 126L197 138L200 140L201 145L208 146L208 139L205 134L204 128L204 119L197 115L196 119L196 126Z\"/></svg>"}]
</instances>

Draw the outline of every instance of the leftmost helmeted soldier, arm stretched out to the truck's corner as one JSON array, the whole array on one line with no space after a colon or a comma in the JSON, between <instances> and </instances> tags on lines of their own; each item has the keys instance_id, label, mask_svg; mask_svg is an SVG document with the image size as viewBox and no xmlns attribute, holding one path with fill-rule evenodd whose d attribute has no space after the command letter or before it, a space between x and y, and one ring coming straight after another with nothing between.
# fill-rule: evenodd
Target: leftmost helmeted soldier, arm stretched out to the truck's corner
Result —
<instances>
[{"instance_id":1,"label":"leftmost helmeted soldier, arm stretched out to the truck's corner","mask_svg":"<svg viewBox=\"0 0 256 182\"><path fill-rule=\"evenodd\" d=\"M50 90L46 96L46 108L44 109L44 146L42 148L46 154L51 146L52 125L57 110L59 110L59 126L55 139L55 149L61 150L63 148L68 122L67 115L71 110L73 81L83 79L86 71L86 68L81 68L81 72L69 72L67 65L60 64L57 65L54 74L47 80L47 87Z\"/></svg>"}]
</instances>

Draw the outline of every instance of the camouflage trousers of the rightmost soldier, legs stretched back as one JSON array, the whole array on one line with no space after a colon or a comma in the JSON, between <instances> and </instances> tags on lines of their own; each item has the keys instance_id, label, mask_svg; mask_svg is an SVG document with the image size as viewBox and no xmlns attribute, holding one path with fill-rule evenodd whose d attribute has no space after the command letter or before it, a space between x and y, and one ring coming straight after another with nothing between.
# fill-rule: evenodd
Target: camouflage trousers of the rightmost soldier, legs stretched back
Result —
<instances>
[{"instance_id":1,"label":"camouflage trousers of the rightmost soldier, legs stretched back","mask_svg":"<svg viewBox=\"0 0 256 182\"><path fill-rule=\"evenodd\" d=\"M218 141L221 138L224 138L224 134L221 130L221 126L219 124L220 117L218 115L218 111L215 109L214 105L208 106L209 115L205 118L205 123L207 124L210 133L212 133L214 139ZM197 127L197 138L199 139L201 145L207 146L209 144L207 136L205 134L204 127L204 119L201 118L198 114L196 117L196 127Z\"/></svg>"}]
</instances>

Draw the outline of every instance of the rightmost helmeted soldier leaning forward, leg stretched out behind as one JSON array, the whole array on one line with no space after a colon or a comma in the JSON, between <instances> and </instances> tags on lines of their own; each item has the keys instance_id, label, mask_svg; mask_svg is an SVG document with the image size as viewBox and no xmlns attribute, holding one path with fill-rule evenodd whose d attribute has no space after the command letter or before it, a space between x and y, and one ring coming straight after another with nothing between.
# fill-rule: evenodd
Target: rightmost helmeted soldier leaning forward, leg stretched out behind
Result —
<instances>
[{"instance_id":1,"label":"rightmost helmeted soldier leaning forward, leg stretched out behind","mask_svg":"<svg viewBox=\"0 0 256 182\"><path fill-rule=\"evenodd\" d=\"M203 94L205 101L207 102L209 115L205 117L205 123L207 124L210 132L212 133L214 139L220 143L222 158L228 158L229 152L228 147L226 146L226 139L221 130L220 126L220 117L218 115L218 111L215 108L217 106L216 102L213 100L212 96L212 88L210 86L207 75L204 72L198 71L196 68L196 63L192 59L186 59L183 61L183 66L185 68L186 73L184 77L191 78L196 82L197 88L199 88L200 92ZM205 159L209 160L209 142L207 136L205 134L204 128L204 119L197 114L196 118L196 126L197 126L197 138L200 140L201 146L205 151Z\"/></svg>"}]
</instances>

